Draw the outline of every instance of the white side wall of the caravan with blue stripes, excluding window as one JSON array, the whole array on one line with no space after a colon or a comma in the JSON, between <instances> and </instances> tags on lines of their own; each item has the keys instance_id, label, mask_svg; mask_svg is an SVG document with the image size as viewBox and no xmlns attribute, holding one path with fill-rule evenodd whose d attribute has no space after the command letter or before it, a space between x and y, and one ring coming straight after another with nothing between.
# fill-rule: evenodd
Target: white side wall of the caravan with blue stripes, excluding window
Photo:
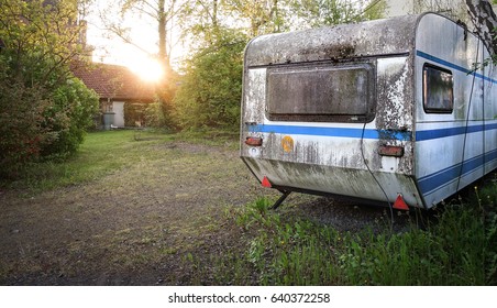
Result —
<instances>
[{"instance_id":1,"label":"white side wall of the caravan with blue stripes, excluding window","mask_svg":"<svg viewBox=\"0 0 497 308\"><path fill-rule=\"evenodd\" d=\"M495 130L485 129L483 117L484 80L488 76L482 70L471 74L473 65L484 57L477 37L446 18L428 14L418 26L416 53L416 175L427 206L431 207L484 175L485 152L493 151L490 139L496 135ZM454 82L451 113L428 113L423 109L424 64L451 72ZM494 100L488 105L495 106L495 96L486 96ZM490 144L485 145L484 140Z\"/></svg>"}]
</instances>

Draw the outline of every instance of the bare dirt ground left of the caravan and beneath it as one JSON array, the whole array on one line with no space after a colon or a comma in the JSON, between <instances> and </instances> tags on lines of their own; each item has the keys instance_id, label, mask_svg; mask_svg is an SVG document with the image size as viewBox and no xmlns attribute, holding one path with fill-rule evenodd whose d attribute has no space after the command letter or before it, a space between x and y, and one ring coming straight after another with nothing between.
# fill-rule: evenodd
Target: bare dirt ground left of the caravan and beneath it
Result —
<instances>
[{"instance_id":1,"label":"bare dirt ground left of the caravan and beneath it","mask_svg":"<svg viewBox=\"0 0 497 308\"><path fill-rule=\"evenodd\" d=\"M31 197L0 191L0 285L197 284L188 255L240 244L225 207L278 196L259 187L238 151L183 142L151 151L162 158L87 184ZM286 204L342 229L385 217L298 194Z\"/></svg>"}]
</instances>

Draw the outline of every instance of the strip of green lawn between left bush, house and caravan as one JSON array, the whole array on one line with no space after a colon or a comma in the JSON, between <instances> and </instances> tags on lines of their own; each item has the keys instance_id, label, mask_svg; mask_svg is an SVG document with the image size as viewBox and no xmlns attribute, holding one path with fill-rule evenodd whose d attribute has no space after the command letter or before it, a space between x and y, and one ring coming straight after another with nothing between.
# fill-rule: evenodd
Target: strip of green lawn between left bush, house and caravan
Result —
<instances>
[{"instance_id":1,"label":"strip of green lawn between left bush, house and caravan","mask_svg":"<svg viewBox=\"0 0 497 308\"><path fill-rule=\"evenodd\" d=\"M27 190L27 194L36 194L57 187L88 183L136 162L148 161L153 158L150 155L154 153L144 153L144 148L151 144L188 141L234 147L235 144L238 146L234 140L231 133L221 131L180 134L165 134L153 130L91 132L74 157L65 162L33 163L24 168L15 180L0 178L0 188L22 189Z\"/></svg>"}]
</instances>

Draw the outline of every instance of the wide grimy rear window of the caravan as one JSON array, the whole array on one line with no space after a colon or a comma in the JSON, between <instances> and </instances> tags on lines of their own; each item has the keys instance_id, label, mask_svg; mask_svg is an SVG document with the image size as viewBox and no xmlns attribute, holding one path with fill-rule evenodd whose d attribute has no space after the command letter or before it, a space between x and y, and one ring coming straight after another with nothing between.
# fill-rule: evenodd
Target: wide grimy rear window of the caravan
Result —
<instances>
[{"instance_id":1,"label":"wide grimy rear window of the caravan","mask_svg":"<svg viewBox=\"0 0 497 308\"><path fill-rule=\"evenodd\" d=\"M371 64L268 68L266 111L275 121L365 122L374 90Z\"/></svg>"}]
</instances>

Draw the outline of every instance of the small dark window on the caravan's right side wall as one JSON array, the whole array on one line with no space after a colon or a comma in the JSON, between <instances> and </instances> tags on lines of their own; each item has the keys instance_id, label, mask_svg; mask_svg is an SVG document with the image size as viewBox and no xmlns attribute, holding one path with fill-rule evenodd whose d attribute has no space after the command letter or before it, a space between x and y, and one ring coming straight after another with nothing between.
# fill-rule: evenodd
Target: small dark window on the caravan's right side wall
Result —
<instances>
[{"instance_id":1,"label":"small dark window on the caravan's right side wall","mask_svg":"<svg viewBox=\"0 0 497 308\"><path fill-rule=\"evenodd\" d=\"M452 73L441 67L423 66L423 107L427 113L452 113L454 106Z\"/></svg>"}]
</instances>

